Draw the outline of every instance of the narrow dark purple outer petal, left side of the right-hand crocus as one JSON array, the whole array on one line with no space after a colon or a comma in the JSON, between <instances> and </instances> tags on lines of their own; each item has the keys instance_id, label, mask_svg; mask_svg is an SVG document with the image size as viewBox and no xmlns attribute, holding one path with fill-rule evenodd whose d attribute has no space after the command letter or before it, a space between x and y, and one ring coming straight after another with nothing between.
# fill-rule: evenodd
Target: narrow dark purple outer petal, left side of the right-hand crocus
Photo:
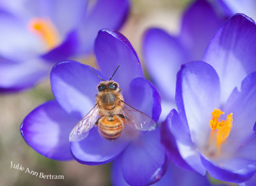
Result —
<instances>
[{"instance_id":1,"label":"narrow dark purple outer petal, left side of the right-hand crocus","mask_svg":"<svg viewBox=\"0 0 256 186\"><path fill-rule=\"evenodd\" d=\"M179 167L192 171L193 169L188 163L181 157L179 149L177 147L176 139L171 132L170 117L166 118L161 124L161 143L163 144L166 153L170 159Z\"/></svg>"}]
</instances>

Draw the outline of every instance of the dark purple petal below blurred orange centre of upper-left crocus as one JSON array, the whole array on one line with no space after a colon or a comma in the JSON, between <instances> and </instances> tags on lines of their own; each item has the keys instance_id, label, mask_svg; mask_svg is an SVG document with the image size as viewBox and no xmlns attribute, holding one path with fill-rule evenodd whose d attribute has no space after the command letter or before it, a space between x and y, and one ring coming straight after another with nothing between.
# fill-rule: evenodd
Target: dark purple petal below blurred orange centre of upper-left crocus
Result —
<instances>
[{"instance_id":1,"label":"dark purple petal below blurred orange centre of upper-left crocus","mask_svg":"<svg viewBox=\"0 0 256 186\"><path fill-rule=\"evenodd\" d=\"M51 63L60 63L67 60L70 56L74 55L77 47L77 33L75 31L70 32L67 38L58 47L50 50L47 54L44 54L42 58Z\"/></svg>"}]
</instances>

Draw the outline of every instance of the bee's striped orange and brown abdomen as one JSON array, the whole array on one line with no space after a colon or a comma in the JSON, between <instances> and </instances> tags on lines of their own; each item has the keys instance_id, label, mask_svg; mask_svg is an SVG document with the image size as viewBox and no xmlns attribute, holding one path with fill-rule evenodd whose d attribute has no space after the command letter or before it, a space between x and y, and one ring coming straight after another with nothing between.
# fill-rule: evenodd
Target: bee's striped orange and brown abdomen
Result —
<instances>
[{"instance_id":1,"label":"bee's striped orange and brown abdomen","mask_svg":"<svg viewBox=\"0 0 256 186\"><path fill-rule=\"evenodd\" d=\"M99 120L100 135L106 139L114 140L122 134L123 121L119 116L102 116Z\"/></svg>"}]
</instances>

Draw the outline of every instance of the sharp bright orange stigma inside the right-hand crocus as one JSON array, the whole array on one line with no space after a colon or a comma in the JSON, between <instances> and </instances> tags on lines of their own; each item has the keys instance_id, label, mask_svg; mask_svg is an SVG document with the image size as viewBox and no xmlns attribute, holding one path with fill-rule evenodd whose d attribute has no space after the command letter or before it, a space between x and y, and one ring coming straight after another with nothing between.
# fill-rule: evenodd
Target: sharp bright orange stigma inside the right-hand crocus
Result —
<instances>
[{"instance_id":1,"label":"sharp bright orange stigma inside the right-hand crocus","mask_svg":"<svg viewBox=\"0 0 256 186\"><path fill-rule=\"evenodd\" d=\"M214 144L217 148L217 155L220 154L221 145L226 141L230 134L233 122L233 113L228 114L226 120L220 120L220 116L224 114L220 109L214 109L212 119L210 120L211 136L209 138L209 145Z\"/></svg>"}]
</instances>

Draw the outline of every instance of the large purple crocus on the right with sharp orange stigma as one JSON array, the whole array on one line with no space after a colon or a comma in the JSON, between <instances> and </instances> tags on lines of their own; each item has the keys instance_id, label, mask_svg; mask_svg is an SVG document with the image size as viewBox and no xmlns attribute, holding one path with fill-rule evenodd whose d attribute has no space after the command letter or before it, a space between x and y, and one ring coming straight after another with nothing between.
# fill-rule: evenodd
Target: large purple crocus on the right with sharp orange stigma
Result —
<instances>
[{"instance_id":1,"label":"large purple crocus on the right with sharp orange stigma","mask_svg":"<svg viewBox=\"0 0 256 186\"><path fill-rule=\"evenodd\" d=\"M234 183L256 172L255 33L250 17L234 15L209 43L207 63L182 65L175 94L179 112L173 109L161 130L179 166Z\"/></svg>"}]
</instances>

